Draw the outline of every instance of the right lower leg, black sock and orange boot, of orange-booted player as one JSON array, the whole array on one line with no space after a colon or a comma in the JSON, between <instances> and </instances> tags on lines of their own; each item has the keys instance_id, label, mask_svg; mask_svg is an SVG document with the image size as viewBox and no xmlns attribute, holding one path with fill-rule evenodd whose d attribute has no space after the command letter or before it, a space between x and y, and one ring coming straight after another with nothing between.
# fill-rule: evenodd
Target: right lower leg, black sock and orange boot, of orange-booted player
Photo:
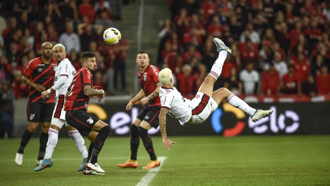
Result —
<instances>
[{"instance_id":1,"label":"right lower leg, black sock and orange boot, of orange-booted player","mask_svg":"<svg viewBox=\"0 0 330 186\"><path fill-rule=\"evenodd\" d=\"M147 166L142 167L143 169L150 169L154 167L158 167L160 165L160 161L157 159L155 151L153 150L152 140L148 134L148 130L151 129L151 125L146 121L142 121L138 133L143 141L143 145L146 148L147 152L149 153L150 160Z\"/></svg>"}]
</instances>

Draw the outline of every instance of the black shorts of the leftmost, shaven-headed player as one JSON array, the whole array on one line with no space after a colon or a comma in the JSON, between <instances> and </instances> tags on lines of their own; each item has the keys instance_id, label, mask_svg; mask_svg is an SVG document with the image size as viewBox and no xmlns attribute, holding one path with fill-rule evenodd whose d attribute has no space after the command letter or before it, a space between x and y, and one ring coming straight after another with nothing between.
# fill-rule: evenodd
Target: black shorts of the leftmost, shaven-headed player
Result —
<instances>
[{"instance_id":1,"label":"black shorts of the leftmost, shaven-headed player","mask_svg":"<svg viewBox=\"0 0 330 186\"><path fill-rule=\"evenodd\" d=\"M28 102L26 115L28 122L51 122L55 103Z\"/></svg>"}]
</instances>

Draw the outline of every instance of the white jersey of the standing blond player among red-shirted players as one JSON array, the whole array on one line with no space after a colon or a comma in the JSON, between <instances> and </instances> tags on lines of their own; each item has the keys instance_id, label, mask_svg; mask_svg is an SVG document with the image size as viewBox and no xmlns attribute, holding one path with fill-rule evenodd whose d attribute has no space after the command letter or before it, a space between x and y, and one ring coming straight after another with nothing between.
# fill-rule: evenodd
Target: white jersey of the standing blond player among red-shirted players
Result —
<instances>
[{"instance_id":1,"label":"white jersey of the standing blond player among red-shirted players","mask_svg":"<svg viewBox=\"0 0 330 186\"><path fill-rule=\"evenodd\" d=\"M54 85L60 76L67 76L68 78L65 80L65 83L62 87L56 90L56 98L59 95L64 95L68 90L74 75L76 74L75 67L71 64L68 58L64 58L57 66L54 77Z\"/></svg>"}]
</instances>

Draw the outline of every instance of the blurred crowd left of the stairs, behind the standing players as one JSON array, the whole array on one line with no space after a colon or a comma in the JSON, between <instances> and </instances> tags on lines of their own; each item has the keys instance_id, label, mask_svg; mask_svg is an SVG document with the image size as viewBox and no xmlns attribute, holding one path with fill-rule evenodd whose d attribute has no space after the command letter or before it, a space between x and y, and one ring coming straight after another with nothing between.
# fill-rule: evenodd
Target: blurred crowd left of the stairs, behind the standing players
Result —
<instances>
[{"instance_id":1,"label":"blurred crowd left of the stairs, behind the standing players","mask_svg":"<svg viewBox=\"0 0 330 186\"><path fill-rule=\"evenodd\" d=\"M0 78L13 85L15 98L27 96L28 88L20 80L22 71L31 59L41 56L46 41L63 44L76 70L81 68L80 54L94 52L98 61L94 85L114 92L118 72L124 74L122 63L129 47L125 40L115 46L103 41L103 31L114 27L116 17L110 4L109 0L0 2ZM125 89L125 79L121 88Z\"/></svg>"}]
</instances>

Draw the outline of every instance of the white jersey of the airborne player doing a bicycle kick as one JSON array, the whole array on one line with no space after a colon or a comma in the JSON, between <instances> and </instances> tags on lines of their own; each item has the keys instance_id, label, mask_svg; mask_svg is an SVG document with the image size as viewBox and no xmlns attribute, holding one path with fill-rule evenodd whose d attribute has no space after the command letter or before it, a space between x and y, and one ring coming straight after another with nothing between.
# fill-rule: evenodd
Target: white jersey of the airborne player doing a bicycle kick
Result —
<instances>
[{"instance_id":1,"label":"white jersey of the airborne player doing a bicycle kick","mask_svg":"<svg viewBox=\"0 0 330 186\"><path fill-rule=\"evenodd\" d=\"M178 119L181 125L187 123L191 118L191 102L182 97L181 93L173 87L159 88L159 97L162 104L161 108L169 109L169 115Z\"/></svg>"}]
</instances>

